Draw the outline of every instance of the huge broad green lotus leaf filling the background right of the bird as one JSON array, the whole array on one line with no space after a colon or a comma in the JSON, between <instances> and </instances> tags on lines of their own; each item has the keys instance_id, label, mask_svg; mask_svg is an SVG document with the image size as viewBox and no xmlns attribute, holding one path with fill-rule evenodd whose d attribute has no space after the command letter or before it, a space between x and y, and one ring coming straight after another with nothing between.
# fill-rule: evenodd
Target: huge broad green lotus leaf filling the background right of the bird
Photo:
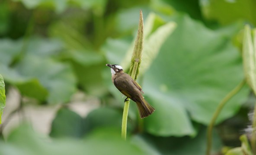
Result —
<instances>
[{"instance_id":1,"label":"huge broad green lotus leaf filling the background right of the bird","mask_svg":"<svg viewBox=\"0 0 256 155\"><path fill-rule=\"evenodd\" d=\"M156 109L145 119L145 130L161 136L193 134L189 117L208 124L221 99L244 78L240 53L231 43L239 26L211 31L188 16L178 16L176 22L178 28L142 85ZM231 99L217 123L234 115L247 94L245 88Z\"/></svg>"}]
</instances>

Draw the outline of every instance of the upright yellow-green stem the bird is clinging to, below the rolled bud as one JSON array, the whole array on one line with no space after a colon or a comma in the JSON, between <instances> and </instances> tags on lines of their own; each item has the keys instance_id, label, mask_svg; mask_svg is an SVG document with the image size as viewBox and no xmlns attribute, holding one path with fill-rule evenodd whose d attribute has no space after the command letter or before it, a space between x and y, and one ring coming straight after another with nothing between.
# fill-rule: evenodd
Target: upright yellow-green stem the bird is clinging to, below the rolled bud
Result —
<instances>
[{"instance_id":1,"label":"upright yellow-green stem the bird is clinging to, below the rolled bud","mask_svg":"<svg viewBox=\"0 0 256 155\"><path fill-rule=\"evenodd\" d=\"M134 67L131 72L131 78L135 78L136 72L138 68L138 62L134 62ZM123 119L122 119L122 138L126 140L126 130L127 130L127 118L128 118L128 111L129 111L129 104L130 104L130 99L128 98L128 101L125 101L125 107L124 107L124 112L123 112Z\"/></svg>"}]
</instances>

